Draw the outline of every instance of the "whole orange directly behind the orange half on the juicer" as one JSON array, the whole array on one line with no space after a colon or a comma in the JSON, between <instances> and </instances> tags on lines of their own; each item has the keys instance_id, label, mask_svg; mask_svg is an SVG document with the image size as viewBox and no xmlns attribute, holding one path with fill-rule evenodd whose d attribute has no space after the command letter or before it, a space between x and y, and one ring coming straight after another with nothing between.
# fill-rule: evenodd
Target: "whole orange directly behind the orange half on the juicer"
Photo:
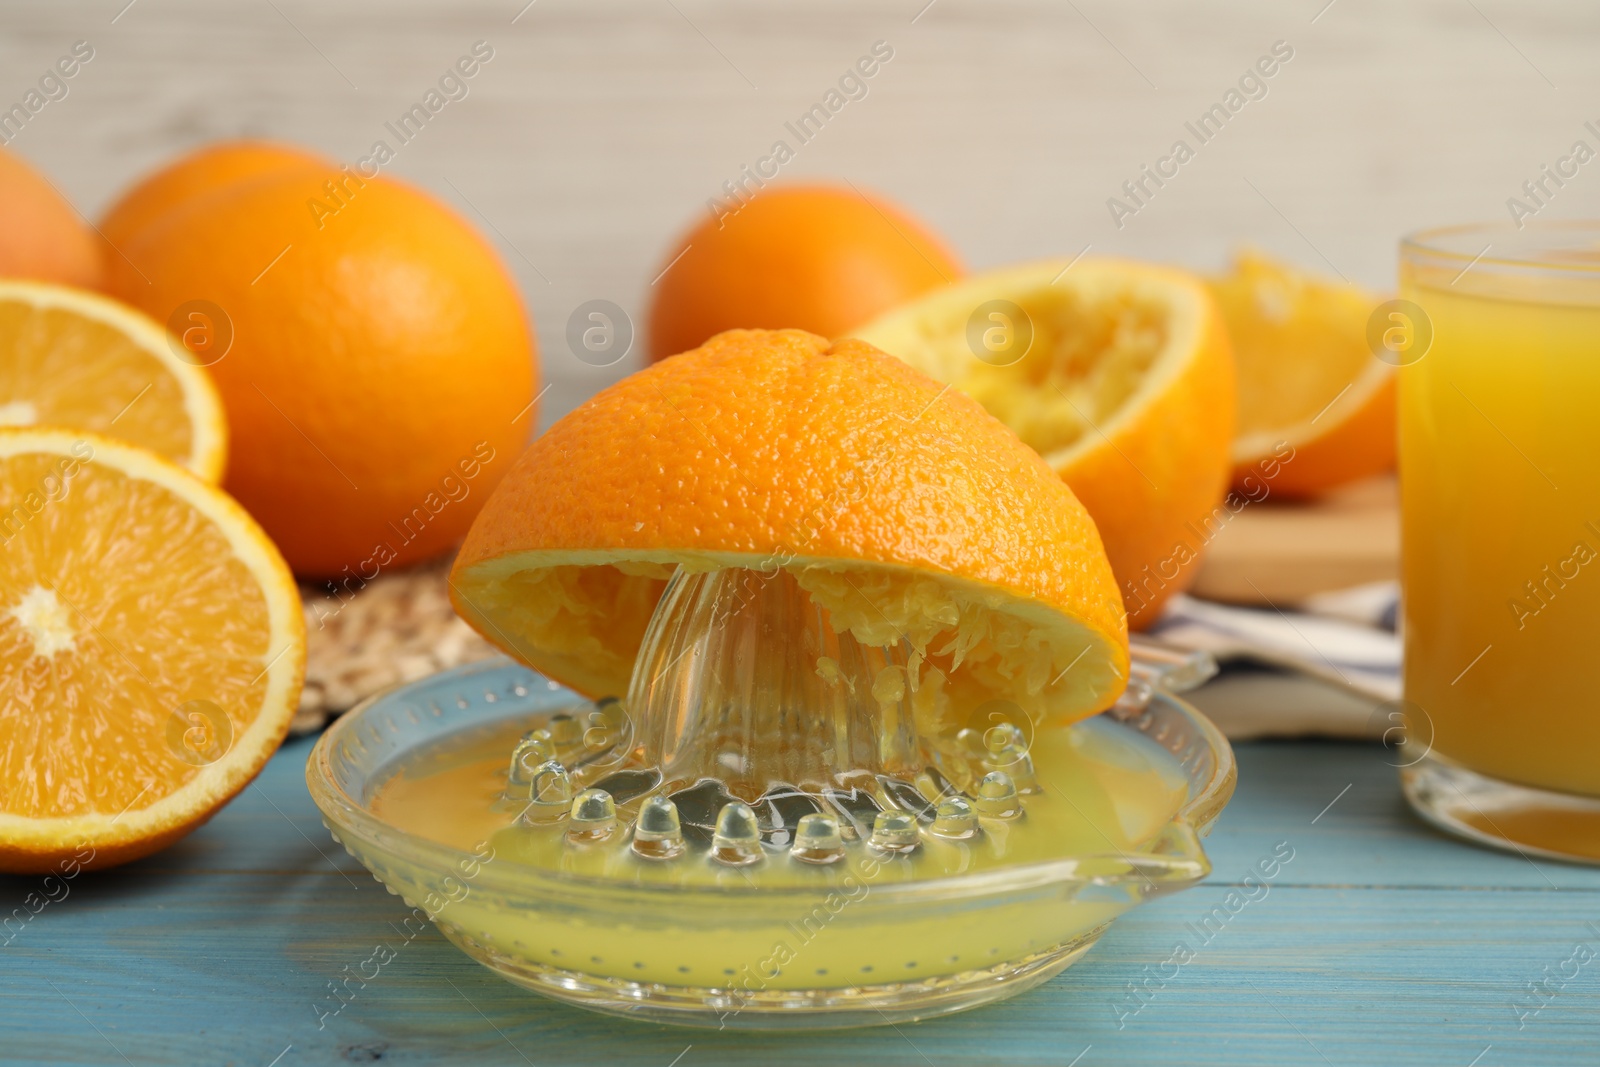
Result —
<instances>
[{"instance_id":1,"label":"whole orange directly behind the orange half on the juicer","mask_svg":"<svg viewBox=\"0 0 1600 1067\"><path fill-rule=\"evenodd\" d=\"M720 224L696 226L667 262L650 306L653 360L738 328L837 338L962 277L944 243L902 210L830 186L762 190Z\"/></svg>"}]
</instances>

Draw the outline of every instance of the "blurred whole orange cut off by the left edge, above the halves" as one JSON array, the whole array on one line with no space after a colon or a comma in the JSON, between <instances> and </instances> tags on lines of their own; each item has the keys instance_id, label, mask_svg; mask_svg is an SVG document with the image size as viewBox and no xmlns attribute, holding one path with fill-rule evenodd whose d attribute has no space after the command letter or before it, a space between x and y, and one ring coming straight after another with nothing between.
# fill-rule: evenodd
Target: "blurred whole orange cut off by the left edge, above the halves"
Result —
<instances>
[{"instance_id":1,"label":"blurred whole orange cut off by the left edge, above the halves","mask_svg":"<svg viewBox=\"0 0 1600 1067\"><path fill-rule=\"evenodd\" d=\"M43 174L0 149L0 278L99 285L94 232Z\"/></svg>"}]
</instances>

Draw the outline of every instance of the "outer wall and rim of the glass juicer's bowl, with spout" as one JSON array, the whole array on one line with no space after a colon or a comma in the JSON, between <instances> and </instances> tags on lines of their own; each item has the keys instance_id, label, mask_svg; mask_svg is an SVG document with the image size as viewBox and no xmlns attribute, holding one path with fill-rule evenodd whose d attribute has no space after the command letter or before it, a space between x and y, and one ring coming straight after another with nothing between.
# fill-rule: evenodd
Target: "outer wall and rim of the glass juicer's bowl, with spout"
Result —
<instances>
[{"instance_id":1,"label":"outer wall and rim of the glass juicer's bowl, with spout","mask_svg":"<svg viewBox=\"0 0 1600 1067\"><path fill-rule=\"evenodd\" d=\"M1187 793L1133 851L1061 856L920 881L832 886L629 883L496 859L378 817L408 758L467 733L538 725L582 697L509 659L381 693L318 739L306 768L336 841L478 963L549 997L714 1029L878 1025L963 1011L1062 971L1133 905L1205 878L1200 846L1234 753L1163 689L1102 723L1166 749Z\"/></svg>"}]
</instances>

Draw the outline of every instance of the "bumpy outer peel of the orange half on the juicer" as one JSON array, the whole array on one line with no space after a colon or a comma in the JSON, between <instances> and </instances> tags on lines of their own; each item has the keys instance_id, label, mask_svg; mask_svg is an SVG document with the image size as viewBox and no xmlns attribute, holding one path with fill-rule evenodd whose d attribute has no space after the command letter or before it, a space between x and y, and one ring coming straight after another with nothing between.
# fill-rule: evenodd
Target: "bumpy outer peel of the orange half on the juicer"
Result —
<instances>
[{"instance_id":1,"label":"bumpy outer peel of the orange half on the juicer","mask_svg":"<svg viewBox=\"0 0 1600 1067\"><path fill-rule=\"evenodd\" d=\"M451 574L458 611L474 621L459 598L474 565L573 549L952 574L1042 601L1126 648L1099 533L1034 450L901 360L800 330L718 334L552 426L467 534ZM482 632L504 645L493 625Z\"/></svg>"}]
</instances>

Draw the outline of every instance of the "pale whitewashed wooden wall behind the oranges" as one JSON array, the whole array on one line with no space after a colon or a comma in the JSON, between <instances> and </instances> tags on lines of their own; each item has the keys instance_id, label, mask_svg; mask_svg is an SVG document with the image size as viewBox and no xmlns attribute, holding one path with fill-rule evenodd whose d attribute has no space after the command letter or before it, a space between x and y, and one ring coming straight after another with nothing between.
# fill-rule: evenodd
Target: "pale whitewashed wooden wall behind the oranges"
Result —
<instances>
[{"instance_id":1,"label":"pale whitewashed wooden wall behind the oranges","mask_svg":"<svg viewBox=\"0 0 1600 1067\"><path fill-rule=\"evenodd\" d=\"M94 46L10 147L90 216L213 138L355 160L486 40L470 96L390 173L488 221L538 323L544 424L638 357L578 362L571 310L606 298L638 317L706 200L877 40L893 61L784 176L882 190L973 267L1086 245L1213 267L1256 242L1386 286L1405 230L1504 218L1574 139L1600 147L1582 126L1600 126L1592 0L525 3L5 0L0 106ZM1294 58L1269 94L1118 230L1106 198L1277 40ZM1546 213L1600 214L1600 162Z\"/></svg>"}]
</instances>

